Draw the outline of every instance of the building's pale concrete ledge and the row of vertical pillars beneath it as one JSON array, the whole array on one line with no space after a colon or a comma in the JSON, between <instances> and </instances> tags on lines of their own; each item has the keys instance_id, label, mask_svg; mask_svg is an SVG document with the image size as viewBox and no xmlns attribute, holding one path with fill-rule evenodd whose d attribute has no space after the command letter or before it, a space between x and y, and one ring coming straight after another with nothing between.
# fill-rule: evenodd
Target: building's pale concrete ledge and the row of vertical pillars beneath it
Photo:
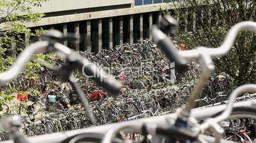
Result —
<instances>
[{"instance_id":1,"label":"building's pale concrete ledge and the row of vertical pillars beneath it","mask_svg":"<svg viewBox=\"0 0 256 143\"><path fill-rule=\"evenodd\" d=\"M138 42L138 40L152 39L150 29L153 24L158 24L162 17L159 8L173 9L174 4L148 4L132 6L131 8L48 16L42 18L36 24L26 23L26 25L31 27L32 31L43 27L46 30L55 28L63 32L64 35L73 33L80 38L75 42L65 41L64 44L66 46L76 49L76 51L97 53L101 49L113 48L119 44L133 44ZM194 27L196 27L194 12L189 11L190 16L188 16L188 8L180 8L180 10L180 14L184 13L186 17L178 18L181 23L180 29L185 32L194 30ZM188 27L188 24L192 28Z\"/></svg>"}]
</instances>

